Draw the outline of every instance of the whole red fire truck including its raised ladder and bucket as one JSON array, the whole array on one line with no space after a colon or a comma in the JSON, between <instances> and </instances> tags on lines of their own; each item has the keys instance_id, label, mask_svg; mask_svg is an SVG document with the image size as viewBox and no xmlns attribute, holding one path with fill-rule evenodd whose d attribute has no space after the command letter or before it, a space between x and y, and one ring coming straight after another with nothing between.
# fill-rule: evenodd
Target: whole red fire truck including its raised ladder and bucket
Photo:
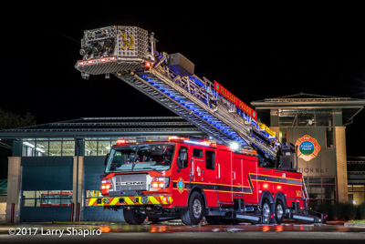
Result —
<instances>
[{"instance_id":1,"label":"whole red fire truck including its raised ladder and bucket","mask_svg":"<svg viewBox=\"0 0 365 244\"><path fill-rule=\"evenodd\" d=\"M104 197L89 198L89 206L122 210L130 224L146 217L188 225L203 217L211 224L324 221L324 215L308 215L295 147L282 145L255 110L220 83L195 76L185 56L158 52L154 33L126 25L86 30L80 55L75 67L83 78L116 76L216 142L120 140L105 161Z\"/></svg>"}]
</instances>

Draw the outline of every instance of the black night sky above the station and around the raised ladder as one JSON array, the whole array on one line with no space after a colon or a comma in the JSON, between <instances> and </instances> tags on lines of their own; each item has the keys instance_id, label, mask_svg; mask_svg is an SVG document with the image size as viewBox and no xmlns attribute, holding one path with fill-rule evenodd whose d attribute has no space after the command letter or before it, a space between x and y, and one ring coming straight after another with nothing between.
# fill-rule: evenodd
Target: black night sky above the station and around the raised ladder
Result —
<instances>
[{"instance_id":1,"label":"black night sky above the station and around the raised ladder","mask_svg":"<svg viewBox=\"0 0 365 244\"><path fill-rule=\"evenodd\" d=\"M183 2L179 2L182 4ZM137 25L157 50L182 53L195 75L217 80L246 104L300 92L365 99L365 22L356 6L13 6L2 18L0 108L37 124L79 117L174 116L111 76L81 78L83 31ZM150 4L152 5L152 4ZM5 11L5 9L3 9ZM365 156L365 111L349 125L348 155Z\"/></svg>"}]
</instances>

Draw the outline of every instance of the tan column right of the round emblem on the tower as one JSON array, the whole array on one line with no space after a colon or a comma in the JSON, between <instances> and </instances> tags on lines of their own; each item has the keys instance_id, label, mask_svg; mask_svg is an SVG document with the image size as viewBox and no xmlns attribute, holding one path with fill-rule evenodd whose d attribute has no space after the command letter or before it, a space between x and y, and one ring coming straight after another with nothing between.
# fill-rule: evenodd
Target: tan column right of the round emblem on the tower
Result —
<instances>
[{"instance_id":1,"label":"tan column right of the round emblem on the tower","mask_svg":"<svg viewBox=\"0 0 365 244\"><path fill-rule=\"evenodd\" d=\"M336 127L337 195L339 202L348 202L348 168L346 155L346 127Z\"/></svg>"}]
</instances>

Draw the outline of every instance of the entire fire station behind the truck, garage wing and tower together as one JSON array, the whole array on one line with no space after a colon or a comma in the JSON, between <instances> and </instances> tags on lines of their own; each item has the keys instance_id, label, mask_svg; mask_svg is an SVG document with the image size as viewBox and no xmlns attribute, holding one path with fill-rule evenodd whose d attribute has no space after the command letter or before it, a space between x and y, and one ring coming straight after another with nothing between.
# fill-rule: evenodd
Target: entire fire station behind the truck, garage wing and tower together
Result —
<instances>
[{"instance_id":1,"label":"entire fire station behind the truck, garage wing and tower together","mask_svg":"<svg viewBox=\"0 0 365 244\"><path fill-rule=\"evenodd\" d=\"M252 102L258 119L282 143L297 145L298 169L312 205L364 200L364 159L347 158L345 134L364 105L365 100L308 94ZM0 217L7 222L122 220L120 211L87 207L88 197L99 196L110 147L120 137L141 142L174 135L208 137L182 117L89 117L2 130L2 143L12 146L13 155Z\"/></svg>"}]
</instances>

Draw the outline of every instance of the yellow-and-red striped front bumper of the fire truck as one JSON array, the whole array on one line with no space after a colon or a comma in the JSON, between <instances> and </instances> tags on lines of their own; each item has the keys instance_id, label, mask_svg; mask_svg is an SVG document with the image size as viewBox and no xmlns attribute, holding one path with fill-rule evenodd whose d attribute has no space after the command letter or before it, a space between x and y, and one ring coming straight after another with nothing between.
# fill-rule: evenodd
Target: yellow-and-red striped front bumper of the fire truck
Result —
<instances>
[{"instance_id":1,"label":"yellow-and-red striped front bumper of the fire truck","mask_svg":"<svg viewBox=\"0 0 365 244\"><path fill-rule=\"evenodd\" d=\"M144 195L138 197L89 198L89 203L87 206L107 207L107 206L171 205L171 204L172 204L171 196Z\"/></svg>"}]
</instances>

